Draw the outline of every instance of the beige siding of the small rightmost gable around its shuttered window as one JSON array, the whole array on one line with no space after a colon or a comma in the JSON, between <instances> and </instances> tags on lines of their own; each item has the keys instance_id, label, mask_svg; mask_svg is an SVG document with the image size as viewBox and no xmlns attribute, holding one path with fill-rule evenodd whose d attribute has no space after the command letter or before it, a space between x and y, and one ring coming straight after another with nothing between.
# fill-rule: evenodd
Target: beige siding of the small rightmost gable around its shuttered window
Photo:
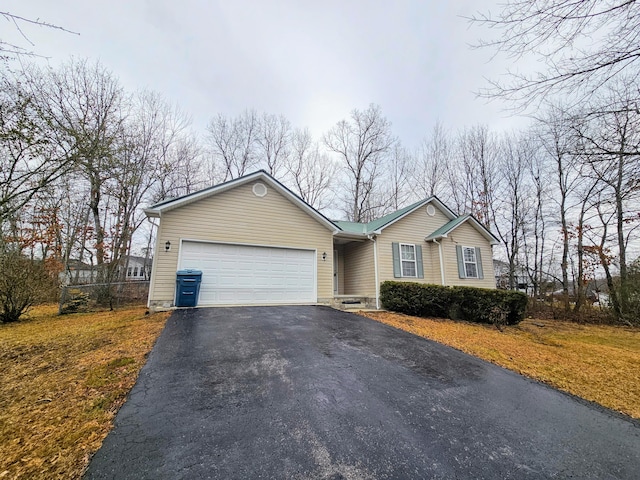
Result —
<instances>
[{"instance_id":1,"label":"beige siding of the small rightmost gable around its shuttered window","mask_svg":"<svg viewBox=\"0 0 640 480\"><path fill-rule=\"evenodd\" d=\"M484 279L459 277L456 245L463 247L480 247ZM447 285L496 288L491 245L474 227L468 223L460 225L451 232L447 238L442 239L442 249L444 251L444 268Z\"/></svg>"}]
</instances>

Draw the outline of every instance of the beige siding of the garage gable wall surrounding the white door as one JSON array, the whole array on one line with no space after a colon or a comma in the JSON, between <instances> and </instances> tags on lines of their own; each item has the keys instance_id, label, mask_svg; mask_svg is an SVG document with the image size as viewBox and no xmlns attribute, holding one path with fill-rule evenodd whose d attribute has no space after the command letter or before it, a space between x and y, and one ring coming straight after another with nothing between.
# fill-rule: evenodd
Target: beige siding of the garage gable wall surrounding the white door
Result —
<instances>
[{"instance_id":1,"label":"beige siding of the garage gable wall surrounding the white door","mask_svg":"<svg viewBox=\"0 0 640 480\"><path fill-rule=\"evenodd\" d=\"M333 297L332 232L270 186L266 196L257 197L252 191L254 184L250 182L162 213L151 305L173 304L178 251L183 239L316 250L318 298ZM171 242L170 252L164 251L167 241ZM324 252L327 259L323 261Z\"/></svg>"}]
</instances>

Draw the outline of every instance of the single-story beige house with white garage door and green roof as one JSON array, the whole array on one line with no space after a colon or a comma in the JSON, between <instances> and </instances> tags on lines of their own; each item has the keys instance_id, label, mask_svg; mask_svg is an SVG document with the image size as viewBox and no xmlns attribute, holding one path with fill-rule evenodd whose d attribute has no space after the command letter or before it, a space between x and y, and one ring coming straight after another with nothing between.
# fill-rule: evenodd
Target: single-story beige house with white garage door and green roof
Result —
<instances>
[{"instance_id":1,"label":"single-story beige house with white garage door and green roof","mask_svg":"<svg viewBox=\"0 0 640 480\"><path fill-rule=\"evenodd\" d=\"M369 223L333 222L264 171L145 210L159 218L149 306L174 305L176 271L203 272L198 305L379 307L385 280L495 288L497 239L436 197Z\"/></svg>"}]
</instances>

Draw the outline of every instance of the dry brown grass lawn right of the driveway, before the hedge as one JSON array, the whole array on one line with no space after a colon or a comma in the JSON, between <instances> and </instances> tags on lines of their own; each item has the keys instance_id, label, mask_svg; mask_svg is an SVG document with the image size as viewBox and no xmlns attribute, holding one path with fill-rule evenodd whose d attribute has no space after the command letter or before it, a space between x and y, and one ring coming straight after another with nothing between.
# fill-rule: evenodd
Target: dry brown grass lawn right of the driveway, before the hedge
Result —
<instances>
[{"instance_id":1,"label":"dry brown grass lawn right of the driveway, before the hedge","mask_svg":"<svg viewBox=\"0 0 640 480\"><path fill-rule=\"evenodd\" d=\"M501 332L453 320L361 313L640 418L640 328L527 319Z\"/></svg>"}]
</instances>

